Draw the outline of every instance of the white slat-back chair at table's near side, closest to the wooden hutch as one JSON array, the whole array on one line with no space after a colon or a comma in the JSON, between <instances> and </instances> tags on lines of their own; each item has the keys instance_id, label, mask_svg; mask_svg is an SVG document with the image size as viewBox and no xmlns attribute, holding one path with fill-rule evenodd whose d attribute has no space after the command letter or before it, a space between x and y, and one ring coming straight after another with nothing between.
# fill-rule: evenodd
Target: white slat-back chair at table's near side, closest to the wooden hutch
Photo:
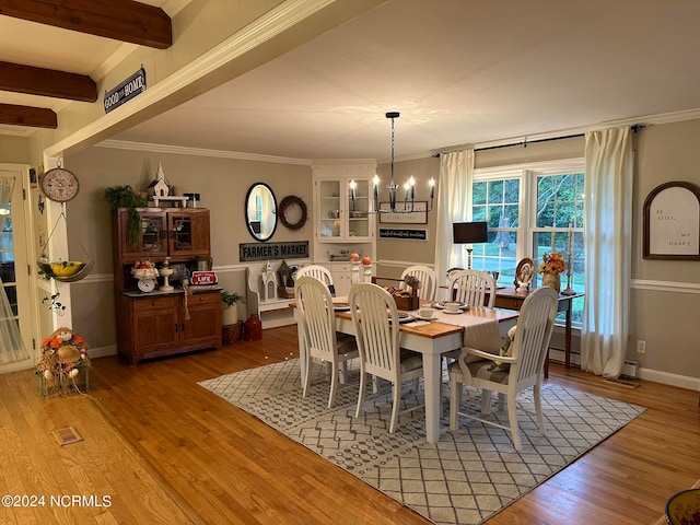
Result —
<instances>
[{"instance_id":1,"label":"white slat-back chair at table's near side, closest to the wooden hutch","mask_svg":"<svg viewBox=\"0 0 700 525\"><path fill-rule=\"evenodd\" d=\"M294 295L302 328L300 334L303 336L300 342L306 349L302 362L303 396L306 397L311 385L312 359L324 360L331 371L328 395L328 408L331 408L336 400L340 365L359 357L357 341L353 336L336 332L332 298L324 282L312 276L302 276L294 283Z\"/></svg>"}]
</instances>

